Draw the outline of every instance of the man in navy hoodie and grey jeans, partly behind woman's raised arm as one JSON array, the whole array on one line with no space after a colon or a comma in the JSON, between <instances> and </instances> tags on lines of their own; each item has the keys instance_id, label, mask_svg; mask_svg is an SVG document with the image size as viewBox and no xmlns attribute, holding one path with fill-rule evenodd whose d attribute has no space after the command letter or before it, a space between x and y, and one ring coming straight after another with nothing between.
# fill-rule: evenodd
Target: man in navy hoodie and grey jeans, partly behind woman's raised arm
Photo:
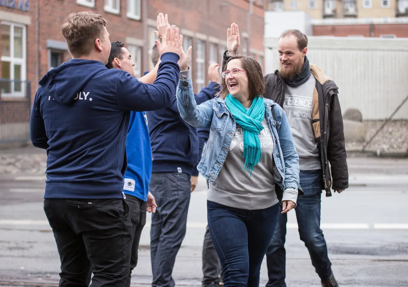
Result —
<instances>
[{"instance_id":1,"label":"man in navy hoodie and grey jeans, partly behind woman's raised arm","mask_svg":"<svg viewBox=\"0 0 408 287\"><path fill-rule=\"evenodd\" d=\"M152 63L157 64L157 49L153 47ZM180 65L180 78L190 74L191 47L188 61ZM219 78L219 65L210 66L211 75ZM197 104L212 99L219 91L220 83L212 81L199 94ZM169 108L147 112L153 150L153 173L150 191L157 202L151 223L151 264L153 287L173 287L171 276L177 252L186 234L188 205L191 192L198 181L198 135L197 129L181 117L174 99Z\"/></svg>"}]
</instances>

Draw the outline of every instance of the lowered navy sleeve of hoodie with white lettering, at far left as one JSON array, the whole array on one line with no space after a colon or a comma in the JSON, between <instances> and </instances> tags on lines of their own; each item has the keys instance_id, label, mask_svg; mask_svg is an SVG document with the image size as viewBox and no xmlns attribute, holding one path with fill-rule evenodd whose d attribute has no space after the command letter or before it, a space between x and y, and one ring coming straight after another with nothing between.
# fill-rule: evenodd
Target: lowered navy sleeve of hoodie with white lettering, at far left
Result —
<instances>
[{"instance_id":1,"label":"lowered navy sleeve of hoodie with white lettering, at far left","mask_svg":"<svg viewBox=\"0 0 408 287\"><path fill-rule=\"evenodd\" d=\"M44 119L40 112L38 101L42 93L42 87L39 87L35 93L33 108L30 115L30 137L33 146L37 148L49 148L48 137L45 132Z\"/></svg>"}]
</instances>

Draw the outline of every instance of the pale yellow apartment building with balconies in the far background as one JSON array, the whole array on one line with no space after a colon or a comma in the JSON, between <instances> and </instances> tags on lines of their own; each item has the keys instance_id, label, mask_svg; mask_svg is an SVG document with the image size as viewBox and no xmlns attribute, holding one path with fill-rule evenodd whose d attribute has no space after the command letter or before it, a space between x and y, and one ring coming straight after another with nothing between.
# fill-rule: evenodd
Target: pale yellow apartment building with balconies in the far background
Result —
<instances>
[{"instance_id":1,"label":"pale yellow apartment building with balconies in the far background","mask_svg":"<svg viewBox=\"0 0 408 287\"><path fill-rule=\"evenodd\" d=\"M408 0L268 0L268 11L306 11L313 19L408 17Z\"/></svg>"}]
</instances>

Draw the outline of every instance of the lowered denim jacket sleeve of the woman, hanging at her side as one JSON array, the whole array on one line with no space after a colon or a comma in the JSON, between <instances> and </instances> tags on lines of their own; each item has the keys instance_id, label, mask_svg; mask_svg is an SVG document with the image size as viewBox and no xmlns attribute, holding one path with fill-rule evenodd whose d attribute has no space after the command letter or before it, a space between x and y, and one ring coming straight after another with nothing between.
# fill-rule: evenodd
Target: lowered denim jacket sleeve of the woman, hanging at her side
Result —
<instances>
[{"instance_id":1,"label":"lowered denim jacket sleeve of the woman, hanging at her side","mask_svg":"<svg viewBox=\"0 0 408 287\"><path fill-rule=\"evenodd\" d=\"M279 105L274 105L282 113L282 123L278 130L279 143L282 149L282 155L285 163L285 188L282 201L290 200L296 203L299 186L299 155L297 155L295 143L293 142L292 132L288 119Z\"/></svg>"}]
</instances>

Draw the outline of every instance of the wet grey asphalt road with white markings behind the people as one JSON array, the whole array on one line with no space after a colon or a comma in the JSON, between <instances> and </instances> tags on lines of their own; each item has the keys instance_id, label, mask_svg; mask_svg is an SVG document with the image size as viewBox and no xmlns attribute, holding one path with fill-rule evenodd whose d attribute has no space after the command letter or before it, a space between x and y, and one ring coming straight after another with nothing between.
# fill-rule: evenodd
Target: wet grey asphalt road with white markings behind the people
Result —
<instances>
[{"instance_id":1,"label":"wet grey asphalt road with white markings behind the people","mask_svg":"<svg viewBox=\"0 0 408 287\"><path fill-rule=\"evenodd\" d=\"M340 286L408 286L408 160L349 158L350 188L322 197L322 229ZM173 277L200 286L206 227L206 183L192 193L187 234ZM0 274L58 278L60 261L42 209L44 175L0 175ZM133 283L151 282L149 222L142 233ZM297 233L295 212L286 237L288 286L320 286ZM1 278L0 278L1 279ZM267 281L266 263L261 285Z\"/></svg>"}]
</instances>

